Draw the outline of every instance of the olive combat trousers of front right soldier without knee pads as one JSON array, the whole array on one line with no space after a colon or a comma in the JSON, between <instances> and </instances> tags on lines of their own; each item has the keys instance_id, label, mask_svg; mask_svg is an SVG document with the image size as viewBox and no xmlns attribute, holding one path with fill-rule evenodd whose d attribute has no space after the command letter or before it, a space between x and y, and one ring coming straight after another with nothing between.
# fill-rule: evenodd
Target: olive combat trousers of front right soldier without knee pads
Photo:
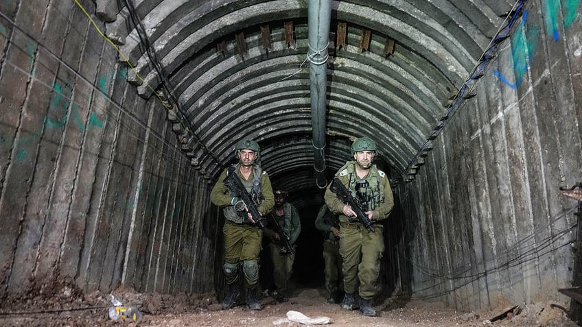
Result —
<instances>
[{"instance_id":1,"label":"olive combat trousers of front right soldier without knee pads","mask_svg":"<svg viewBox=\"0 0 582 327\"><path fill-rule=\"evenodd\" d=\"M376 294L380 259L384 254L382 226L370 232L356 223L340 223L340 254L344 261L344 289L371 300ZM358 287L359 286L359 287Z\"/></svg>"}]
</instances>

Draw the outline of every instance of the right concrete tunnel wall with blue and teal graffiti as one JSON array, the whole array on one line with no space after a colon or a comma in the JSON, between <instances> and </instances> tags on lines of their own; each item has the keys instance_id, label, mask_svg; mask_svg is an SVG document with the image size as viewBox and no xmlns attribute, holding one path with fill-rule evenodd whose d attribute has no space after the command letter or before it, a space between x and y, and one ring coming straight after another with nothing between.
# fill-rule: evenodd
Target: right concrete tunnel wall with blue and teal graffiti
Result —
<instances>
[{"instance_id":1,"label":"right concrete tunnel wall with blue and teal graffiti","mask_svg":"<svg viewBox=\"0 0 582 327\"><path fill-rule=\"evenodd\" d=\"M582 181L582 21L564 2L528 3L397 187L388 261L413 298L462 311L570 300L558 289L579 274L579 204L560 188Z\"/></svg>"}]
</instances>

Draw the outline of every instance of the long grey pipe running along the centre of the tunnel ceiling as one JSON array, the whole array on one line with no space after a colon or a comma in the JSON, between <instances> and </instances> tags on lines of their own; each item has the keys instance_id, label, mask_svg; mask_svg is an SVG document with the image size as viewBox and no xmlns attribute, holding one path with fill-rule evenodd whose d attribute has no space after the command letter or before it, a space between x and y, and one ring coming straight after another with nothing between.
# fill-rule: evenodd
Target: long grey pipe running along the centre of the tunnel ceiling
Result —
<instances>
[{"instance_id":1,"label":"long grey pipe running along the centre of the tunnel ceiling","mask_svg":"<svg viewBox=\"0 0 582 327\"><path fill-rule=\"evenodd\" d=\"M325 175L325 102L327 100L327 47L329 46L329 24L331 0L310 0L308 8L310 61L311 115L313 129L314 170L320 189L327 186Z\"/></svg>"}]
</instances>

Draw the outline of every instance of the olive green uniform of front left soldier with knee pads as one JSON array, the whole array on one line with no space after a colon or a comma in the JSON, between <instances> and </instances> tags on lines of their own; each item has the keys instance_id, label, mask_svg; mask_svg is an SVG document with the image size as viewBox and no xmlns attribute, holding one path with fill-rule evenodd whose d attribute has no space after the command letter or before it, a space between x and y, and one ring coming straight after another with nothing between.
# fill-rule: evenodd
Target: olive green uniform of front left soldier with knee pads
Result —
<instances>
[{"instance_id":1,"label":"olive green uniform of front left soldier with knee pads","mask_svg":"<svg viewBox=\"0 0 582 327\"><path fill-rule=\"evenodd\" d=\"M275 197L272 193L271 182L268 173L262 171L258 165L253 166L253 171L246 180L240 173L237 165L235 169L246 191L251 192L255 179L261 185L260 192L263 198L259 205L259 213L265 215L270 212L275 204ZM237 213L233 204L235 195L228 186L224 184L224 178L228 169L224 169L218 182L214 185L210 199L213 204L223 208L224 228L224 278L226 284L234 284L238 280L238 265L242 263L242 270L245 276L248 289L255 289L259 282L259 253L261 252L261 242L263 231L248 223L246 212ZM257 178L255 178L257 176ZM260 177L259 177L260 176ZM253 217L255 218L255 217Z\"/></svg>"}]
</instances>

